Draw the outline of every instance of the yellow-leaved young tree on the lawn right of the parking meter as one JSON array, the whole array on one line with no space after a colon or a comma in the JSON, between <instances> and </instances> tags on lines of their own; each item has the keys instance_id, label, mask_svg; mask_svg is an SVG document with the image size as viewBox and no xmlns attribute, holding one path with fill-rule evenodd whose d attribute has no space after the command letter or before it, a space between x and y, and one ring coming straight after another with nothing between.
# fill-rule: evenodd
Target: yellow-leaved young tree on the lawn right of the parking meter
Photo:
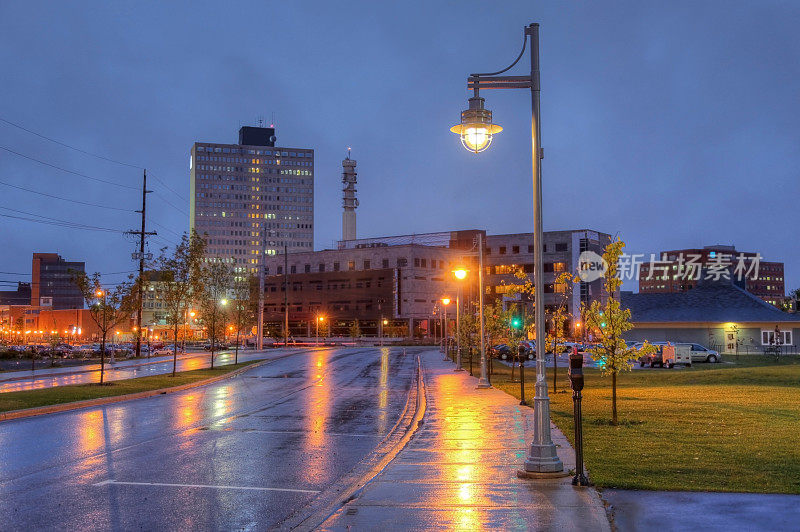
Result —
<instances>
[{"instance_id":1,"label":"yellow-leaved young tree on the lawn right of the parking meter","mask_svg":"<svg viewBox=\"0 0 800 532\"><path fill-rule=\"evenodd\" d=\"M655 352L655 347L644 343L639 351L628 347L622 339L622 333L630 330L631 311L621 307L617 295L622 285L622 279L617 275L619 258L625 243L619 239L606 246L603 259L607 264L603 273L605 280L603 290L606 294L605 303L592 301L589 307L584 307L583 315L588 330L593 331L598 344L589 348L592 360L598 363L603 376L611 375L611 424L617 425L617 375L622 371L630 371L632 358Z\"/></svg>"}]
</instances>

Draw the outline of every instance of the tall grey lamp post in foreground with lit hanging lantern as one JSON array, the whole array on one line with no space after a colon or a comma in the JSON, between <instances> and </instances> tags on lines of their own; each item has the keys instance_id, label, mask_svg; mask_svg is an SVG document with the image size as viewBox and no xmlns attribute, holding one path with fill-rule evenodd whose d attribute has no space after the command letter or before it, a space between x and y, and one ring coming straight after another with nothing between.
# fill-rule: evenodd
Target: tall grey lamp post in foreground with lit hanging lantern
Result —
<instances>
[{"instance_id":1,"label":"tall grey lamp post in foreground with lit hanging lantern","mask_svg":"<svg viewBox=\"0 0 800 532\"><path fill-rule=\"evenodd\" d=\"M531 69L528 76L502 76L522 59L530 38ZM497 72L471 74L467 78L467 87L473 90L469 99L469 108L461 113L461 123L450 130L458 134L461 144L474 153L487 149L495 134L502 131L500 126L492 123L492 112L484 108L484 99L480 89L529 89L531 91L531 162L533 170L533 250L534 250L534 297L536 345L540 348L544 341L544 290L542 285L542 168L543 156L541 148L541 124L539 122L539 24L530 24L524 29L522 50L511 65ZM543 351L541 349L537 349ZM543 355L543 353L542 353ZM533 442L525 460L526 473L558 473L564 470L564 464L558 458L556 446L550 436L550 398L547 394L545 380L544 356L536 357L536 385L534 397L534 430Z\"/></svg>"}]
</instances>

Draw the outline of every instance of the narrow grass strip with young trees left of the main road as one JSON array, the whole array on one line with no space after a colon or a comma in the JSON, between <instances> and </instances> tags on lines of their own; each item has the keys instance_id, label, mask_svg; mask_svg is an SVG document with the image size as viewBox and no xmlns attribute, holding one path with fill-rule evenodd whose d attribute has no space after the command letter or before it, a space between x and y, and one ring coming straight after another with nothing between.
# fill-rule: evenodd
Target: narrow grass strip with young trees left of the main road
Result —
<instances>
[{"instance_id":1,"label":"narrow grass strip with young trees left of the main road","mask_svg":"<svg viewBox=\"0 0 800 532\"><path fill-rule=\"evenodd\" d=\"M229 364L216 367L214 369L197 369L192 371L178 372L175 377L171 375L153 375L149 377L139 377L137 379L126 379L111 381L103 385L100 384L73 384L70 386L56 386L41 390L30 390L23 392L8 392L0 394L0 412L10 410L20 410L23 408L34 408L37 406L57 405L61 403L71 403L83 401L85 399L96 399L98 397L113 397L129 393L145 392L180 386L197 382L209 377L216 377L230 373L233 370L253 364L256 361L242 362L239 364Z\"/></svg>"}]
</instances>

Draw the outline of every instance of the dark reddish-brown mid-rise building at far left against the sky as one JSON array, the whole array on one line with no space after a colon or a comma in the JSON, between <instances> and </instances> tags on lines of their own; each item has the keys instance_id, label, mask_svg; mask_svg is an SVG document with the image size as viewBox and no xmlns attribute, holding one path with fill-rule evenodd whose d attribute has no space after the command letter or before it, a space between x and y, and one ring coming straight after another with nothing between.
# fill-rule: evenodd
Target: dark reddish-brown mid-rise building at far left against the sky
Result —
<instances>
[{"instance_id":1,"label":"dark reddish-brown mid-rise building at far left against the sky","mask_svg":"<svg viewBox=\"0 0 800 532\"><path fill-rule=\"evenodd\" d=\"M58 253L34 253L31 267L31 305L53 310L83 308L83 294L74 277L83 262L67 262Z\"/></svg>"}]
</instances>

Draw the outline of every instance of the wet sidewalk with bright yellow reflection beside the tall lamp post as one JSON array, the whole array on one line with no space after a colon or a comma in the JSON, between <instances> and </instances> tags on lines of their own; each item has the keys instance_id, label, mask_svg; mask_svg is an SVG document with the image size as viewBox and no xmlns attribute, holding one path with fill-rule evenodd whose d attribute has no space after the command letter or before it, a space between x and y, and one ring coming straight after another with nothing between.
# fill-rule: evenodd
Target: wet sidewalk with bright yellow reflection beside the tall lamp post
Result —
<instances>
[{"instance_id":1,"label":"wet sidewalk with bright yellow reflection beside the tall lamp post","mask_svg":"<svg viewBox=\"0 0 800 532\"><path fill-rule=\"evenodd\" d=\"M533 410L495 389L478 390L437 351L421 355L427 397L424 425L357 496L320 527L326 530L609 530L597 492L570 477L521 480L516 471L533 434ZM555 426L565 469L569 443Z\"/></svg>"}]
</instances>

